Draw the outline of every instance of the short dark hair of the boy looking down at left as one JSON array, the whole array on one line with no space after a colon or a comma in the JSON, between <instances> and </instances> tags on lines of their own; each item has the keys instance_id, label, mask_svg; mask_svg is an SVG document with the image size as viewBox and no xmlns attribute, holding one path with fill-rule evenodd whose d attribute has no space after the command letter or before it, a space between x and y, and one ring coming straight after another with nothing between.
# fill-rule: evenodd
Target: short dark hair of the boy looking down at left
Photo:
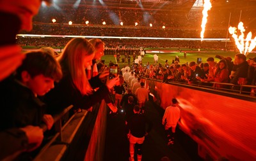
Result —
<instances>
[{"instance_id":1,"label":"short dark hair of the boy looking down at left","mask_svg":"<svg viewBox=\"0 0 256 161\"><path fill-rule=\"evenodd\" d=\"M42 51L26 53L26 58L16 71L18 80L21 80L22 71L28 71L32 78L39 74L52 78L54 81L60 81L62 78L60 64L52 55Z\"/></svg>"}]
</instances>

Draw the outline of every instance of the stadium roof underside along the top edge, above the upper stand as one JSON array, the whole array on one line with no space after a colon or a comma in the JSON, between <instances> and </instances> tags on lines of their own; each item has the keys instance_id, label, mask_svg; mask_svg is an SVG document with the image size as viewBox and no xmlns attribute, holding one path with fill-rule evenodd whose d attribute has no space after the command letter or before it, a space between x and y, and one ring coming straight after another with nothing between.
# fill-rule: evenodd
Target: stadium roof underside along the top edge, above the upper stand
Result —
<instances>
[{"instance_id":1,"label":"stadium roof underside along the top edge, above the upper stand","mask_svg":"<svg viewBox=\"0 0 256 161\"><path fill-rule=\"evenodd\" d=\"M136 10L202 10L204 0L53 0L58 5L85 5ZM256 8L256 0L211 0L212 8Z\"/></svg>"}]
</instances>

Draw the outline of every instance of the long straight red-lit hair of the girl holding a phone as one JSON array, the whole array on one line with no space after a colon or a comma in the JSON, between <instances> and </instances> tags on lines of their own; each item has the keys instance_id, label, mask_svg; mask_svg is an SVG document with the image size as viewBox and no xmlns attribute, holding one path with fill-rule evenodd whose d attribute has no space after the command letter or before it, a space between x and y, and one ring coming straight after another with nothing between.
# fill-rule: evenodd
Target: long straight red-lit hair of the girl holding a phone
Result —
<instances>
[{"instance_id":1,"label":"long straight red-lit hair of the girl holding a phone","mask_svg":"<svg viewBox=\"0 0 256 161\"><path fill-rule=\"evenodd\" d=\"M95 48L86 39L74 38L68 41L63 53L57 58L64 69L63 73L70 74L72 82L82 95L92 94L92 87L85 73L84 57L93 55L94 52Z\"/></svg>"}]
</instances>

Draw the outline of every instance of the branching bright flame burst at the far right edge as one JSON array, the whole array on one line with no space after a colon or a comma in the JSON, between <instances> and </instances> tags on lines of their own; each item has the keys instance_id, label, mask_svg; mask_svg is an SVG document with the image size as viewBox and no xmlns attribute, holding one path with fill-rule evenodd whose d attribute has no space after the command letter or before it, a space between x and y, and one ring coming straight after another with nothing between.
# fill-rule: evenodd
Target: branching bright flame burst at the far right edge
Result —
<instances>
[{"instance_id":1,"label":"branching bright flame burst at the far right edge","mask_svg":"<svg viewBox=\"0 0 256 161\"><path fill-rule=\"evenodd\" d=\"M243 53L244 55L247 55L248 53L252 52L253 48L256 46L256 36L254 39L252 39L252 32L249 32L246 36L246 39L244 39L244 26L243 22L239 22L238 24L238 30L241 32L240 36L237 36L236 34L236 27L229 27L228 31L230 34L232 34L232 37L234 38L236 42L236 46L240 53ZM245 43L244 43L245 41Z\"/></svg>"}]
</instances>

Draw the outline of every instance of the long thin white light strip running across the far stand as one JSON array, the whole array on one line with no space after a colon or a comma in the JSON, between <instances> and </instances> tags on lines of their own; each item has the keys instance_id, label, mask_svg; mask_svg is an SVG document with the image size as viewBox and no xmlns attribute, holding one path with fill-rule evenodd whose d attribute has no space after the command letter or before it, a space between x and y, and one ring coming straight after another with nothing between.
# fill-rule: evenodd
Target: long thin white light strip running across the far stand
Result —
<instances>
[{"instance_id":1,"label":"long thin white light strip running across the far stand","mask_svg":"<svg viewBox=\"0 0 256 161\"><path fill-rule=\"evenodd\" d=\"M121 37L121 36L76 36L76 35L42 35L42 34L17 34L17 36L42 37L45 38L99 38L99 39L165 39L165 40L191 40L200 41L201 38L150 38L150 37ZM205 38L205 41L230 41L225 38Z\"/></svg>"}]
</instances>

